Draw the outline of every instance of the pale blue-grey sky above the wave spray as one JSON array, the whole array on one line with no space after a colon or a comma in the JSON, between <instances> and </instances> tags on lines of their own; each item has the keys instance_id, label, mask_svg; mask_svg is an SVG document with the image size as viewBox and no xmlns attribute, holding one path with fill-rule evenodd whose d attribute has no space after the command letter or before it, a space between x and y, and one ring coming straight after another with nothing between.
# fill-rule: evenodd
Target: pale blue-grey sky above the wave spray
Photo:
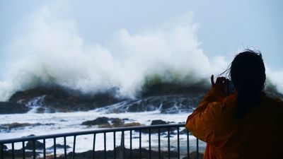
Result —
<instances>
[{"instance_id":1,"label":"pale blue-grey sky above the wave spray","mask_svg":"<svg viewBox=\"0 0 283 159\"><path fill-rule=\"evenodd\" d=\"M260 49L266 64L282 70L283 2L279 0L113 0L37 1L0 0L0 61L6 65L13 56L12 44L42 7L56 18L71 19L85 44L107 45L117 30L139 33L166 21L192 13L197 24L196 38L207 57L231 59L238 49ZM4 71L1 70L0 71Z\"/></svg>"}]
</instances>

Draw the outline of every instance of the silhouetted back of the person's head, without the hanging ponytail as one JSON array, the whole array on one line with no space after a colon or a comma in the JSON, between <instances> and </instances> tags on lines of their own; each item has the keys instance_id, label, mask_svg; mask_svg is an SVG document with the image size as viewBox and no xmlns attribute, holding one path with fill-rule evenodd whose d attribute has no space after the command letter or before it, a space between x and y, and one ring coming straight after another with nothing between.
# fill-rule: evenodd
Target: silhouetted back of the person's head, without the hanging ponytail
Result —
<instances>
[{"instance_id":1,"label":"silhouetted back of the person's head, without the hanging ponytail","mask_svg":"<svg viewBox=\"0 0 283 159\"><path fill-rule=\"evenodd\" d=\"M265 64L258 52L246 50L231 63L230 76L237 90L261 92L265 85Z\"/></svg>"}]
</instances>

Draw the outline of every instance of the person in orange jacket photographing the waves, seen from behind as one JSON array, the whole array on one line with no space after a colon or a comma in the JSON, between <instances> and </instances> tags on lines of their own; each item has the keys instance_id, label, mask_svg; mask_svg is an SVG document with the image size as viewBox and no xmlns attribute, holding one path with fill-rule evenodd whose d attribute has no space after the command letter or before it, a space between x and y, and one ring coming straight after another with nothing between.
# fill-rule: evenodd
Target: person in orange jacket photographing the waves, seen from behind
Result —
<instances>
[{"instance_id":1,"label":"person in orange jacket photographing the waves, seen from behind","mask_svg":"<svg viewBox=\"0 0 283 159\"><path fill-rule=\"evenodd\" d=\"M185 127L207 143L204 159L283 158L283 102L267 97L262 55L244 50L226 71L229 79L218 77L197 108L187 117Z\"/></svg>"}]
</instances>

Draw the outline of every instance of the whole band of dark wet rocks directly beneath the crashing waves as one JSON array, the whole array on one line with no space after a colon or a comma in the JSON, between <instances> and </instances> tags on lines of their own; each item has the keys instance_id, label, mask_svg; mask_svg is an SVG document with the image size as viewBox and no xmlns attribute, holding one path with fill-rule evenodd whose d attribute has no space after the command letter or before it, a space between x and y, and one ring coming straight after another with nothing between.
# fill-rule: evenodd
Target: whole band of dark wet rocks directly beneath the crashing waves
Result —
<instances>
[{"instance_id":1,"label":"whole band of dark wet rocks directly beneath the crashing waves","mask_svg":"<svg viewBox=\"0 0 283 159\"><path fill-rule=\"evenodd\" d=\"M137 98L129 99L118 98L115 90L91 95L60 86L38 87L19 91L7 102L0 102L0 114L26 113L35 107L36 113L88 111L120 103L123 107L108 112L143 112L162 106L161 113L176 113L179 108L190 110L205 91L201 87L156 84L144 88Z\"/></svg>"}]
</instances>

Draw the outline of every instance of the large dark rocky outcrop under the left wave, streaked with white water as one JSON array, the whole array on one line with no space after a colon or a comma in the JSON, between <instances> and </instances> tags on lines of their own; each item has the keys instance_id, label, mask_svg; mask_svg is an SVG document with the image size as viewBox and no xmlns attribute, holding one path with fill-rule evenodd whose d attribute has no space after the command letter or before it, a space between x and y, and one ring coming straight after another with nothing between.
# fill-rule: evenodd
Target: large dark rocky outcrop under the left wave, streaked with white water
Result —
<instances>
[{"instance_id":1,"label":"large dark rocky outcrop under the left wave, streaked with white water","mask_svg":"<svg viewBox=\"0 0 283 159\"><path fill-rule=\"evenodd\" d=\"M9 102L43 107L37 112L74 112L93 110L121 100L115 98L112 93L90 95L60 86L53 86L19 91L11 96Z\"/></svg>"}]
</instances>

